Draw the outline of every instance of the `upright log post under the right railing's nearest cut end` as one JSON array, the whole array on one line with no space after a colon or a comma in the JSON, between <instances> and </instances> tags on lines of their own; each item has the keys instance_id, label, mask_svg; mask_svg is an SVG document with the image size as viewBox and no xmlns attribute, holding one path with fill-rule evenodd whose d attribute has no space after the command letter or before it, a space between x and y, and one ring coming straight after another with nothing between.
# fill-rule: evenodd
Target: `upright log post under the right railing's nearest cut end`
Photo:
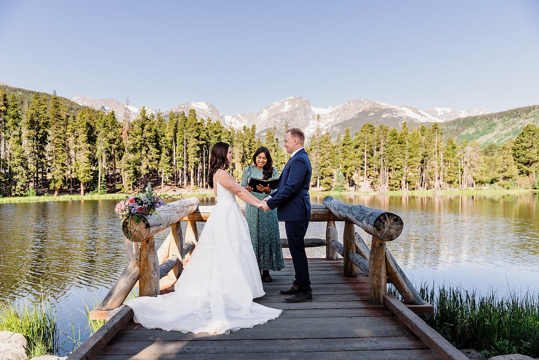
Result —
<instances>
[{"instance_id":1,"label":"upright log post under the right railing's nearest cut end","mask_svg":"<svg viewBox=\"0 0 539 360\"><path fill-rule=\"evenodd\" d=\"M382 305L386 291L385 241L373 235L369 257L369 303Z\"/></svg>"}]
</instances>

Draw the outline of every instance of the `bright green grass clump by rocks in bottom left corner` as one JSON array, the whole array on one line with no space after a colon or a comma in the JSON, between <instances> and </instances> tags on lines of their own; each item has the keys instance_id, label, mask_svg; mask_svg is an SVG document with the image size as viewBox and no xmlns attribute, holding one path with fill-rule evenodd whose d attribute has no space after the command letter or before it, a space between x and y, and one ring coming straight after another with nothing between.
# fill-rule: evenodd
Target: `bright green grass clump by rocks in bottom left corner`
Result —
<instances>
[{"instance_id":1,"label":"bright green grass clump by rocks in bottom left corner","mask_svg":"<svg viewBox=\"0 0 539 360\"><path fill-rule=\"evenodd\" d=\"M3 330L24 335L30 358L54 354L58 345L56 315L49 297L0 303L0 331Z\"/></svg>"}]
</instances>

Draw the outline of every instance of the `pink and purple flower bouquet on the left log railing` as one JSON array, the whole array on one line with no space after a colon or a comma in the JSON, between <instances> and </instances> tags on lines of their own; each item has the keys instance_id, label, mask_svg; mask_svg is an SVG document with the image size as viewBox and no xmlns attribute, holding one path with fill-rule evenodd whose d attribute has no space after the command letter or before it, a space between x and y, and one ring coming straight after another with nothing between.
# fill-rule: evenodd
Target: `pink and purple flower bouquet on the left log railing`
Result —
<instances>
[{"instance_id":1,"label":"pink and purple flower bouquet on the left log railing","mask_svg":"<svg viewBox=\"0 0 539 360\"><path fill-rule=\"evenodd\" d=\"M128 219L130 223L130 219L133 219L138 225L141 215L159 215L157 209L164 205L164 199L170 198L174 198L174 195L154 193L148 183L146 189L139 194L126 196L124 200L117 203L114 211L120 215L122 221Z\"/></svg>"}]
</instances>

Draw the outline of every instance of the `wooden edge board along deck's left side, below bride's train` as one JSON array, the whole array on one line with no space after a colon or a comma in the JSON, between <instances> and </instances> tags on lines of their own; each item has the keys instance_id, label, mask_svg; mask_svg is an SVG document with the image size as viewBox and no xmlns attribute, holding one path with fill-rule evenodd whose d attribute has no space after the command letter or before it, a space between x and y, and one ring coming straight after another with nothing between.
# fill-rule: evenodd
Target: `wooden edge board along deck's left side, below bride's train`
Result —
<instances>
[{"instance_id":1,"label":"wooden edge board along deck's left side, below bride's train","mask_svg":"<svg viewBox=\"0 0 539 360\"><path fill-rule=\"evenodd\" d=\"M118 313L73 351L73 354L69 356L70 360L92 359L132 318L133 310L124 305Z\"/></svg>"}]
</instances>

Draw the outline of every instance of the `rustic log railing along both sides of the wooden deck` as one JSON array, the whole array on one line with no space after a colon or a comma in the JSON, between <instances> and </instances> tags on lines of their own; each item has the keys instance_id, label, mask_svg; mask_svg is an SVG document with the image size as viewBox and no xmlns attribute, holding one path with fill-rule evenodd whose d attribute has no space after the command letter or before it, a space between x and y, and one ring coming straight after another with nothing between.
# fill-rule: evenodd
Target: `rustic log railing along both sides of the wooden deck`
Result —
<instances>
[{"instance_id":1,"label":"rustic log railing along both sides of the wooden deck","mask_svg":"<svg viewBox=\"0 0 539 360\"><path fill-rule=\"evenodd\" d=\"M140 243L140 249L135 251L135 254L130 254L129 264L102 303L96 307L96 311L118 308L137 281L141 296L157 296L160 279L165 276L170 280L178 278L183 269L183 259L189 259L198 241L197 222L208 220L213 208L198 205L199 201L196 198L178 200L163 206L158 216L143 216L139 223L134 221L122 223L126 243ZM241 206L241 210L245 212L244 206ZM185 242L181 230L182 221L187 225ZM397 239L402 233L403 221L398 215L363 205L350 205L327 196L323 204L312 206L310 221L327 222L326 237L305 239L305 246L326 246L328 260L337 260L338 254L343 256L345 277L355 277L357 268L368 274L370 303L383 304L386 279L389 278L405 303L425 304L386 248L386 242ZM338 241L336 221L344 221L342 243ZM370 249L355 232L354 225L372 235ZM170 229L170 233L161 247L155 250L154 235L165 229ZM281 239L281 246L288 247L286 238ZM128 246L128 253L129 249Z\"/></svg>"}]
</instances>

